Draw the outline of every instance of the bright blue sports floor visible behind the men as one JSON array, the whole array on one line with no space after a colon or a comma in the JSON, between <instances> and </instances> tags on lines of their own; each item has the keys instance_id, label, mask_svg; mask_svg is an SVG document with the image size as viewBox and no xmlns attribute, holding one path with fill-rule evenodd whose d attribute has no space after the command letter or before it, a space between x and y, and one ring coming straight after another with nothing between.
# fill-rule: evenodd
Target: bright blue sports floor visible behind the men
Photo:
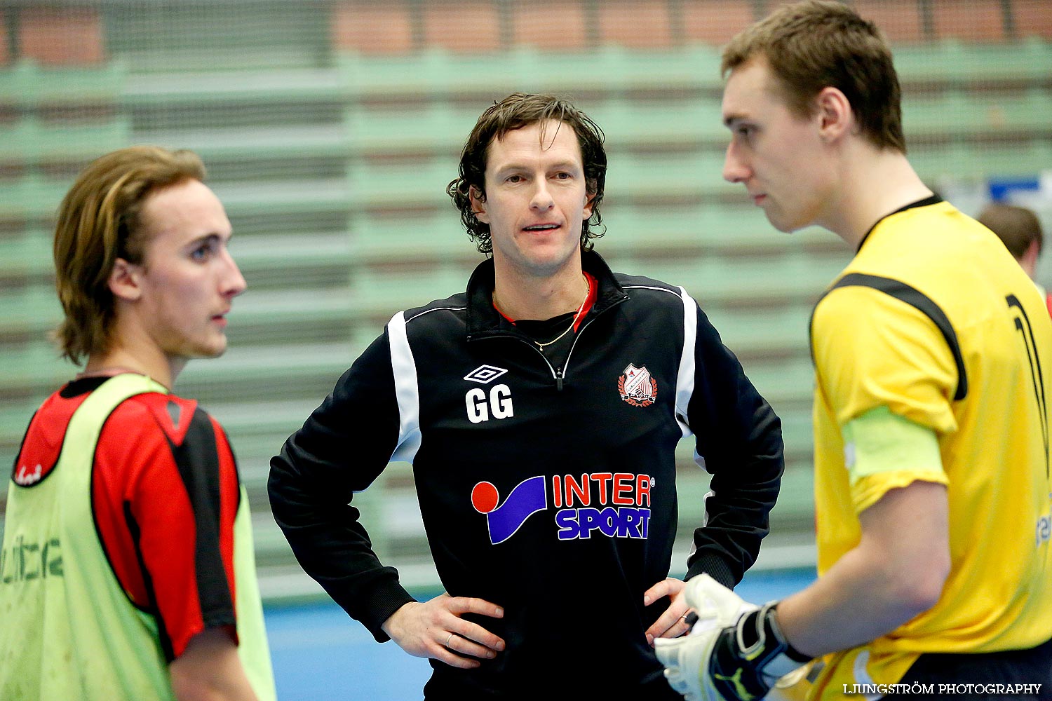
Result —
<instances>
[{"instance_id":1,"label":"bright blue sports floor visible behind the men","mask_svg":"<svg viewBox=\"0 0 1052 701\"><path fill-rule=\"evenodd\" d=\"M735 590L753 603L777 599L814 579L811 570L749 573ZM431 592L412 592L420 599ZM427 660L372 636L330 601L265 611L279 701L419 701Z\"/></svg>"}]
</instances>

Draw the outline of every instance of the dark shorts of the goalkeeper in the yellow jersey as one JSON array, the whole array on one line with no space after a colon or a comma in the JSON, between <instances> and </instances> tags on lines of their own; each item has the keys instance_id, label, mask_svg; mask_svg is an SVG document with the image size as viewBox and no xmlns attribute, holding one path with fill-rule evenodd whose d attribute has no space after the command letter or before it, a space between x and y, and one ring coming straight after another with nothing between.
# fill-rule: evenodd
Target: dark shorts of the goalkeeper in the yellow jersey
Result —
<instances>
[{"instance_id":1,"label":"dark shorts of the goalkeeper in the yellow jersey","mask_svg":"<svg viewBox=\"0 0 1052 701\"><path fill-rule=\"evenodd\" d=\"M898 683L926 688L932 685L934 693L923 694L923 698L932 700L1050 701L1052 640L1029 650L999 653L926 653Z\"/></svg>"}]
</instances>

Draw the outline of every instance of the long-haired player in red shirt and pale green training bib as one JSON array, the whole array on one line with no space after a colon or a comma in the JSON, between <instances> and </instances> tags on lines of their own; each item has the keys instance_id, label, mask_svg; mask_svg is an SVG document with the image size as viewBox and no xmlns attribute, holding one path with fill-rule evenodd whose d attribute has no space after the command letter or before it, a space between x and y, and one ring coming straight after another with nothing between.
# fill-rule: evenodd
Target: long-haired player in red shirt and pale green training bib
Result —
<instances>
[{"instance_id":1,"label":"long-haired player in red shirt and pale green training bib","mask_svg":"<svg viewBox=\"0 0 1052 701\"><path fill-rule=\"evenodd\" d=\"M190 151L107 153L59 209L62 354L0 560L0 698L272 701L248 500L219 422L171 393L226 349L245 281Z\"/></svg>"}]
</instances>

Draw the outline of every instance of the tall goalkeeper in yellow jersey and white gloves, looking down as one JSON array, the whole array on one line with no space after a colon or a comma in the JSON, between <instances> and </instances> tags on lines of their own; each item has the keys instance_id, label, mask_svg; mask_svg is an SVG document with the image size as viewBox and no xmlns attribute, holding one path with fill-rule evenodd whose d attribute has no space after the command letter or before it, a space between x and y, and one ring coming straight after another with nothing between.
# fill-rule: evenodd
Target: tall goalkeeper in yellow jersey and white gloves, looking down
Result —
<instances>
[{"instance_id":1,"label":"tall goalkeeper in yellow jersey and white gloves, looking down","mask_svg":"<svg viewBox=\"0 0 1052 701\"><path fill-rule=\"evenodd\" d=\"M777 8L723 71L724 177L776 229L856 253L810 328L818 579L760 609L691 580L702 619L658 641L666 677L755 699L822 658L811 698L1052 698L1040 294L910 166L891 53L849 6Z\"/></svg>"}]
</instances>

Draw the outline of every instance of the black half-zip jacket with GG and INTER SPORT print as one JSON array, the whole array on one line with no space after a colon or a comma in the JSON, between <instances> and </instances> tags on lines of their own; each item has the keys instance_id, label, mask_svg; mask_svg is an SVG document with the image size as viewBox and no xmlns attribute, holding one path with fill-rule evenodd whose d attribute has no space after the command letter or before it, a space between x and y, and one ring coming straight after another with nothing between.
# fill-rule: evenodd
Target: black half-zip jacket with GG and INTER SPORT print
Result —
<instances>
[{"instance_id":1,"label":"black half-zip jacket with GG and INTER SPORT print","mask_svg":"<svg viewBox=\"0 0 1052 701\"><path fill-rule=\"evenodd\" d=\"M466 293L397 314L271 460L300 563L379 641L413 599L349 504L389 461L412 462L443 586L505 611L472 620L506 650L470 671L432 660L428 699L679 698L644 636L668 601L643 593L668 576L674 449L691 433L712 480L686 504L705 512L688 578L733 586L767 535L778 417L684 290L594 252L583 265L599 289L563 364L494 309L486 261Z\"/></svg>"}]
</instances>

